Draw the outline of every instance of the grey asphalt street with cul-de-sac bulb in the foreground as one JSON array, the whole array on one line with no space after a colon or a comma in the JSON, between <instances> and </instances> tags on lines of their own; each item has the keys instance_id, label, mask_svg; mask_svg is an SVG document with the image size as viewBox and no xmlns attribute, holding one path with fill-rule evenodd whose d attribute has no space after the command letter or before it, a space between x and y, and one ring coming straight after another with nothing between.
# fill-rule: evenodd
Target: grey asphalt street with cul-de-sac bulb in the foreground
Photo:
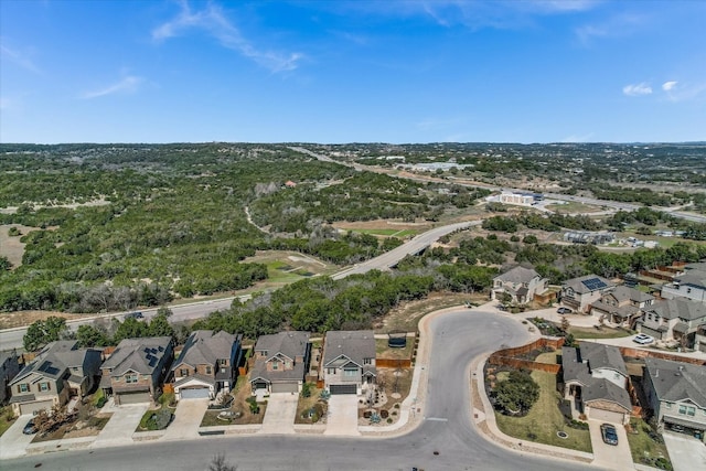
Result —
<instances>
[{"instance_id":1,"label":"grey asphalt street with cul-de-sac bulb in the foreground","mask_svg":"<svg viewBox=\"0 0 706 471\"><path fill-rule=\"evenodd\" d=\"M396 438L322 436L231 436L196 440L136 443L126 448L52 452L8 460L8 470L205 470L211 458L225 453L238 471L247 470L588 470L573 461L554 460L500 448L471 425L469 365L501 344L528 340L518 322L492 313L461 310L430 324L426 420ZM438 454L437 454L438 453Z\"/></svg>"}]
</instances>

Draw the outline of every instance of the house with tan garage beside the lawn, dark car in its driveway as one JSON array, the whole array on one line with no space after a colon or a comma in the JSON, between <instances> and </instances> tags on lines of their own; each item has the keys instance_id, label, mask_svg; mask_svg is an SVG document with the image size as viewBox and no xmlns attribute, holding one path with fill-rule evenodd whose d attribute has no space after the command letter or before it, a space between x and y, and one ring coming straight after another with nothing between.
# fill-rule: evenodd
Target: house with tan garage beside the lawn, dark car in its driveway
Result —
<instances>
[{"instance_id":1,"label":"house with tan garage beside the lawn, dark car in its driveway","mask_svg":"<svg viewBox=\"0 0 706 471\"><path fill-rule=\"evenodd\" d=\"M625 387L628 368L617 346L581 342L561 347L564 398L573 415L613 424L628 424L632 403Z\"/></svg>"}]
</instances>

